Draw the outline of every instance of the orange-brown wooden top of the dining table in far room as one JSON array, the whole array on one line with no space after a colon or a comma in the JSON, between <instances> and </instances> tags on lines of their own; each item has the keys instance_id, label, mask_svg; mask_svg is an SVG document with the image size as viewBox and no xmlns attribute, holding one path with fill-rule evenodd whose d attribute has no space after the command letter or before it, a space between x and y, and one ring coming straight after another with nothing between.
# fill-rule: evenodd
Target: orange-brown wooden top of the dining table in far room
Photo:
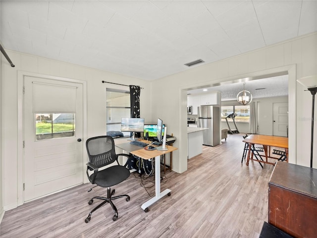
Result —
<instances>
[{"instance_id":1,"label":"orange-brown wooden top of the dining table in far room","mask_svg":"<svg viewBox=\"0 0 317 238\"><path fill-rule=\"evenodd\" d=\"M288 148L288 138L273 135L249 135L243 142L259 145L275 146L279 148Z\"/></svg>"}]
</instances>

